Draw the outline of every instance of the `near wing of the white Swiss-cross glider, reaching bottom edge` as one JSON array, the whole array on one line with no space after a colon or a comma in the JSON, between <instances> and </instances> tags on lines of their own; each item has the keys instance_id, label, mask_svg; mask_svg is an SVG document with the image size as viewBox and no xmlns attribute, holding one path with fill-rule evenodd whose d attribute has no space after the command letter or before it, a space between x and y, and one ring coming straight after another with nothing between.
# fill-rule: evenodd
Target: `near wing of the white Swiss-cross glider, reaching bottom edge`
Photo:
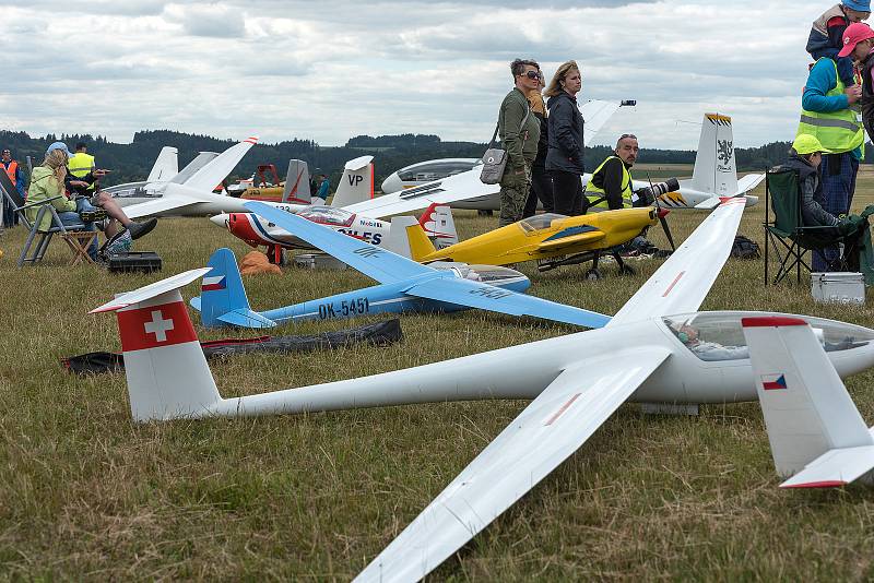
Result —
<instances>
[{"instance_id":1,"label":"near wing of the white Swiss-cross glider, reaching bottom edge","mask_svg":"<svg viewBox=\"0 0 874 583\"><path fill-rule=\"evenodd\" d=\"M668 358L661 347L565 369L355 578L418 581L576 452Z\"/></svg>"}]
</instances>

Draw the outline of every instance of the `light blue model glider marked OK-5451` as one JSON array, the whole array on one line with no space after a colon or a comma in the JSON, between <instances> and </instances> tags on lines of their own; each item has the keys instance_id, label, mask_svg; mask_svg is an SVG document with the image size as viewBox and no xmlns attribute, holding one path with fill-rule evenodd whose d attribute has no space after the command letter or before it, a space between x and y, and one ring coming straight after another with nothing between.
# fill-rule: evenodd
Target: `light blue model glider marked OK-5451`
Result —
<instances>
[{"instance_id":1,"label":"light blue model glider marked OK-5451","mask_svg":"<svg viewBox=\"0 0 874 583\"><path fill-rule=\"evenodd\" d=\"M256 312L229 249L210 258L212 271L203 277L201 296L191 306L201 312L204 326L272 328L298 320L353 318L368 313L438 312L480 308L511 316L533 316L587 328L601 328L610 318L598 312L556 304L522 294L531 285L523 274L493 265L415 261L336 233L300 215L285 213L261 202L247 206L309 245L329 252L379 282L379 285Z\"/></svg>"}]
</instances>

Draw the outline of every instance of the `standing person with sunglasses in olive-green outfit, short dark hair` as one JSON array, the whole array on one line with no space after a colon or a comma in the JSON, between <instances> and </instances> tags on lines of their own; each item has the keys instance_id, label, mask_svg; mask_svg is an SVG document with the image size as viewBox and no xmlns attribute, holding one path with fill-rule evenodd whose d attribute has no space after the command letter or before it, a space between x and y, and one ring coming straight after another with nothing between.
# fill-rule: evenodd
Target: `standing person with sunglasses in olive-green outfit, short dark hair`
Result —
<instances>
[{"instance_id":1,"label":"standing person with sunglasses in olive-green outfit, short dark hair","mask_svg":"<svg viewBox=\"0 0 874 583\"><path fill-rule=\"evenodd\" d=\"M531 191L531 166L538 156L540 121L531 115L527 95L540 88L536 61L516 59L510 63L513 87L504 97L498 111L498 135L507 153L500 178L500 226L522 219Z\"/></svg>"}]
</instances>

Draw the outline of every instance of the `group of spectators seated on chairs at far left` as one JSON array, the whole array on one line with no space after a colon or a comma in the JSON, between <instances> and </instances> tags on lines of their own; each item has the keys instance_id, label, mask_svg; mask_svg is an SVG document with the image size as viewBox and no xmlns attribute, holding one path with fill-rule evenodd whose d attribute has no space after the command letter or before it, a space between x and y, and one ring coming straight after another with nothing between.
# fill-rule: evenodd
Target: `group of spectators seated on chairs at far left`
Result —
<instances>
[{"instance_id":1,"label":"group of spectators seated on chairs at far left","mask_svg":"<svg viewBox=\"0 0 874 583\"><path fill-rule=\"evenodd\" d=\"M130 241L146 235L157 224L154 217L142 223L131 221L110 194L99 190L99 179L106 176L108 170L96 167L94 156L87 153L87 144L83 142L76 144L75 154L71 153L63 142L49 145L43 163L33 169L26 189L21 167L12 159L12 152L9 148L3 151L2 164L19 194L27 204L50 201L64 226L84 227L84 230L91 231L101 228L106 236L103 246L105 254L109 254L110 250L130 248ZM38 213L39 205L25 211L31 222L36 221ZM15 213L9 204L4 206L3 222L7 226L15 224ZM51 216L44 213L38 228L45 230L50 226ZM99 251L95 238L88 248L88 257L96 261Z\"/></svg>"}]
</instances>

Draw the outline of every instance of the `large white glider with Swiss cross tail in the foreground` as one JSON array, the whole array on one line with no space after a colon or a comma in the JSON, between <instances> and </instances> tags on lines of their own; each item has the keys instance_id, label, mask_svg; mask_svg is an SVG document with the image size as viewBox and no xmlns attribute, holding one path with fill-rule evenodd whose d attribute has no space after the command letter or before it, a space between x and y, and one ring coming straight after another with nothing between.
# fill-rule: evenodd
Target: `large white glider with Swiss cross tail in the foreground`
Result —
<instances>
[{"instance_id":1,"label":"large white glider with Swiss cross tail in the foreground","mask_svg":"<svg viewBox=\"0 0 874 583\"><path fill-rule=\"evenodd\" d=\"M742 321L778 314L697 312L729 257L745 204L723 199L603 329L365 378L223 398L179 291L209 269L119 295L92 312L117 312L135 421L531 398L355 580L418 581L576 452L623 403L677 407L757 397ZM796 318L822 330L839 376L874 366L874 330ZM695 326L696 342L684 325Z\"/></svg>"}]
</instances>

